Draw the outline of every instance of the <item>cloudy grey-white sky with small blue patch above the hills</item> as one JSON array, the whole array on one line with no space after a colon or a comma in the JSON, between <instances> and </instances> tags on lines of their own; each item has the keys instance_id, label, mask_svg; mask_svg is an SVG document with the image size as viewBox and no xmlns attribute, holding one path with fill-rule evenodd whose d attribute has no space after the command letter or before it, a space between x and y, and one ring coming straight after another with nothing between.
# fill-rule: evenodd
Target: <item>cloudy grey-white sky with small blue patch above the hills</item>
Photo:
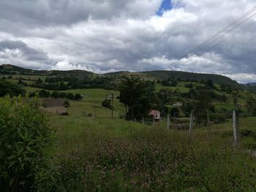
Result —
<instances>
[{"instance_id":1,"label":"cloudy grey-white sky with small blue patch above the hills","mask_svg":"<svg viewBox=\"0 0 256 192\"><path fill-rule=\"evenodd\" d=\"M256 82L255 0L1 0L0 64L96 73L177 70ZM255 15L254 15L255 14Z\"/></svg>"}]
</instances>

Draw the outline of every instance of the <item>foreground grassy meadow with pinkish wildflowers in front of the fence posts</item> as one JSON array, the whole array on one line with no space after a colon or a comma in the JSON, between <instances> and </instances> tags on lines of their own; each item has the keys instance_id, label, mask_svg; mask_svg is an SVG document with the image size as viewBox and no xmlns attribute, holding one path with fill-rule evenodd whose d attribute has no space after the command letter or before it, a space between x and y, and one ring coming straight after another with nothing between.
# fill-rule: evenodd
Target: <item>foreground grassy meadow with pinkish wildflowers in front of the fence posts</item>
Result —
<instances>
[{"instance_id":1,"label":"foreground grassy meadow with pinkish wildflowers in front of the fence posts","mask_svg":"<svg viewBox=\"0 0 256 192\"><path fill-rule=\"evenodd\" d=\"M256 118L241 118L241 130L256 130ZM50 117L56 130L49 150L58 167L55 191L255 191L255 158L246 137L233 152L232 124L167 130L79 115ZM231 132L232 133L232 132ZM255 142L255 140L254 140Z\"/></svg>"}]
</instances>

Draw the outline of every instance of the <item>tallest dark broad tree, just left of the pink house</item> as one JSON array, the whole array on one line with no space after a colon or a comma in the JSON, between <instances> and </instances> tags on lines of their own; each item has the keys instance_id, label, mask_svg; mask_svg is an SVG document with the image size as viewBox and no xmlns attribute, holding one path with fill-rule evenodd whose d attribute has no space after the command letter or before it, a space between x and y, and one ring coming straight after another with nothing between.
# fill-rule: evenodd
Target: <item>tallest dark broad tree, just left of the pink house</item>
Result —
<instances>
[{"instance_id":1,"label":"tallest dark broad tree, just left of the pink house","mask_svg":"<svg viewBox=\"0 0 256 192\"><path fill-rule=\"evenodd\" d=\"M119 87L120 101L128 107L127 118L142 118L151 108L154 83L141 80L140 77L124 77Z\"/></svg>"}]
</instances>

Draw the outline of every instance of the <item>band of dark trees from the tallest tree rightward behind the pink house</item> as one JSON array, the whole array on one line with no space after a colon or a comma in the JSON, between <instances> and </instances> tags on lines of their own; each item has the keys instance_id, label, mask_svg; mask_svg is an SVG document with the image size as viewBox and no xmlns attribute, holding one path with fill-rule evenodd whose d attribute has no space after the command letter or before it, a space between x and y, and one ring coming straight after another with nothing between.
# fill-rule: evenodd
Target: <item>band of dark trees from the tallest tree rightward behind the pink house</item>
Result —
<instances>
[{"instance_id":1,"label":"band of dark trees from the tallest tree rightward behind the pink house","mask_svg":"<svg viewBox=\"0 0 256 192\"><path fill-rule=\"evenodd\" d=\"M190 85L189 85L190 86ZM154 82L141 80L140 77L125 77L119 88L120 101L127 109L127 119L142 118L148 116L149 110L159 110L162 115L170 112L172 116L178 116L180 110L187 115L191 110L197 113L214 112L214 99L226 101L225 94L219 96L214 91L214 84L207 81L206 85L198 85L191 88L189 93L181 93L178 90L162 89L154 90ZM166 105L172 105L175 101L181 101L182 107L172 107L168 111Z\"/></svg>"}]
</instances>

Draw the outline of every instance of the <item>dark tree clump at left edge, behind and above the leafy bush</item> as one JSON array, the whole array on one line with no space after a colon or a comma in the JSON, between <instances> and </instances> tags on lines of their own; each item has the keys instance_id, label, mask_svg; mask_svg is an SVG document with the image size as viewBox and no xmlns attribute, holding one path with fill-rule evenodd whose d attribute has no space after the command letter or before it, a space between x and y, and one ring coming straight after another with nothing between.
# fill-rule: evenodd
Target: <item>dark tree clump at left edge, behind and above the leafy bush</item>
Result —
<instances>
[{"instance_id":1,"label":"dark tree clump at left edge, behind and above the leafy bush","mask_svg":"<svg viewBox=\"0 0 256 192\"><path fill-rule=\"evenodd\" d=\"M0 79L0 96L18 96L25 95L26 91L20 88L18 85L8 82L6 80Z\"/></svg>"}]
</instances>

